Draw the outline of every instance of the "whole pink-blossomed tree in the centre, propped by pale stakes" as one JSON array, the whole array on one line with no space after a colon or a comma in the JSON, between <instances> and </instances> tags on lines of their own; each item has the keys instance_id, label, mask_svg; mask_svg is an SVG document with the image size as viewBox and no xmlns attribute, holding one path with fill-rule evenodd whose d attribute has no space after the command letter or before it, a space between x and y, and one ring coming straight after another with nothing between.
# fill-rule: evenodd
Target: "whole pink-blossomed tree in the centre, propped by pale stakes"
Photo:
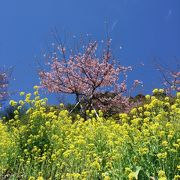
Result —
<instances>
[{"instance_id":1,"label":"whole pink-blossomed tree in the centre, propped by pale stakes","mask_svg":"<svg viewBox=\"0 0 180 180\"><path fill-rule=\"evenodd\" d=\"M98 43L91 41L83 46L82 51L74 53L71 50L68 56L66 48L59 43L48 55L50 71L39 72L42 87L49 92L75 94L76 106L80 106L83 113L95 107L103 110L122 104L128 107L128 97L123 94L127 92L126 73L131 67L115 63L110 43L108 39L106 47L99 51ZM107 90L109 95L102 95Z\"/></svg>"}]
</instances>

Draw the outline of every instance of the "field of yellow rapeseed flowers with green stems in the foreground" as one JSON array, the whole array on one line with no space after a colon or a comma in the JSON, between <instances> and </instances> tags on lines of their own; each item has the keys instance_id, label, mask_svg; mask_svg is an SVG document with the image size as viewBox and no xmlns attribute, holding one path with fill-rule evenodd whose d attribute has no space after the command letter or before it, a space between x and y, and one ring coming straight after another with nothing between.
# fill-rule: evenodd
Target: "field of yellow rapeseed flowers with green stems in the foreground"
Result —
<instances>
[{"instance_id":1,"label":"field of yellow rapeseed flowers with green stems in the foreground","mask_svg":"<svg viewBox=\"0 0 180 180\"><path fill-rule=\"evenodd\" d=\"M0 179L180 179L180 93L155 89L118 120L91 111L74 121L34 89L11 100L14 118L0 121Z\"/></svg>"}]
</instances>

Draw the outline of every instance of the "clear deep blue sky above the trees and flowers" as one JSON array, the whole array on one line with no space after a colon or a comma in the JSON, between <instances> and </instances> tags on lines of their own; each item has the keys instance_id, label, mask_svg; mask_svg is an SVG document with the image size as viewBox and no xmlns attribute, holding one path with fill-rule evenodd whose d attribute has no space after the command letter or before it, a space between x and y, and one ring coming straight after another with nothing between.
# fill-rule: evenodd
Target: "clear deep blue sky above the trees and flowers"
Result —
<instances>
[{"instance_id":1,"label":"clear deep blue sky above the trees and flowers","mask_svg":"<svg viewBox=\"0 0 180 180\"><path fill-rule=\"evenodd\" d=\"M144 81L145 93L160 87L153 59L180 59L179 0L1 0L0 65L14 66L11 91L39 83L35 57L52 43L51 28L101 40L106 20L116 56L134 67L130 79Z\"/></svg>"}]
</instances>

